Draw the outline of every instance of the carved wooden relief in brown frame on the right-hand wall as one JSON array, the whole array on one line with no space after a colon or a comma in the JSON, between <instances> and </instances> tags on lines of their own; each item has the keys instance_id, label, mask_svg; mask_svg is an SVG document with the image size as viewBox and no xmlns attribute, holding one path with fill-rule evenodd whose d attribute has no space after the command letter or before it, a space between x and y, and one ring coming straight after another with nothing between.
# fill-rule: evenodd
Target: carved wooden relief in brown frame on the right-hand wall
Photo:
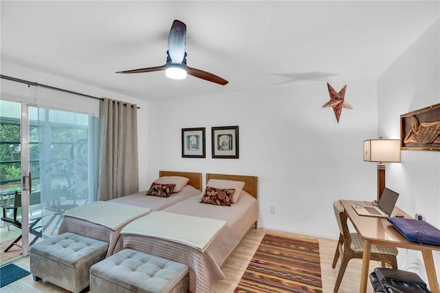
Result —
<instances>
[{"instance_id":1,"label":"carved wooden relief in brown frame on the right-hand wall","mask_svg":"<svg viewBox=\"0 0 440 293\"><path fill-rule=\"evenodd\" d=\"M400 115L400 148L440 152L440 104Z\"/></svg>"}]
</instances>

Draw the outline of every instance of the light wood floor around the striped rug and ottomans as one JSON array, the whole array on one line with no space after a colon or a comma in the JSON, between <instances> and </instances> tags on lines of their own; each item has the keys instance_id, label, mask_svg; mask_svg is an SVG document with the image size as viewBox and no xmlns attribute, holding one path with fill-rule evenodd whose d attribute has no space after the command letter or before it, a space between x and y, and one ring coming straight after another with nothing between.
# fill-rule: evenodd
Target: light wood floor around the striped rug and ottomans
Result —
<instances>
[{"instance_id":1,"label":"light wood floor around the striped rug and ottomans","mask_svg":"<svg viewBox=\"0 0 440 293\"><path fill-rule=\"evenodd\" d=\"M250 259L255 253L256 248L259 246L261 239L265 232L270 233L280 233L282 235L293 235L292 233L284 233L277 231L269 231L265 229L254 229L252 228L247 235L243 238L239 246L232 252L230 257L226 259L223 263L222 270L225 273L225 279L217 281L214 285L214 292L233 292L236 284L239 283L241 276L248 266ZM298 235L297 235L298 236ZM307 237L307 236L303 236ZM320 247L320 259L321 259L321 273L322 273L322 290L323 292L333 292L333 286L335 284L336 275L338 274L338 269L340 262L336 265L336 268L331 268L331 262L333 261L333 255L336 249L336 240L318 238ZM360 271L361 271L361 260L352 259L347 266L347 270L342 279L340 285L340 293L347 292L359 292L360 287ZM20 261L15 262L17 266L24 268L25 270L30 270L29 257L25 257ZM380 263L371 261L370 268L376 268L380 266ZM373 292L371 285L368 285L367 292ZM34 282L32 275L20 279L10 285L1 288L2 293L17 293L17 292L67 292L62 288L52 285L47 282Z\"/></svg>"}]
</instances>

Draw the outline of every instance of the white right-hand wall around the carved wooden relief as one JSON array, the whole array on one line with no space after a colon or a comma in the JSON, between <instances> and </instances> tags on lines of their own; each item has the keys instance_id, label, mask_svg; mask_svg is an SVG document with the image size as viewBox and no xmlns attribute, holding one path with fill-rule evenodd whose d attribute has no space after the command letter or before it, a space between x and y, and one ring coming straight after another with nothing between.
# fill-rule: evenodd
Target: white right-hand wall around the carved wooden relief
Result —
<instances>
[{"instance_id":1,"label":"white right-hand wall around the carved wooden relief","mask_svg":"<svg viewBox=\"0 0 440 293\"><path fill-rule=\"evenodd\" d=\"M378 132L399 137L399 117L440 102L440 23L437 21L377 80ZM410 215L419 213L440 227L440 152L401 152L401 164L387 169L386 185L400 193L398 205ZM440 254L434 253L437 276ZM417 265L420 264L419 265ZM425 277L421 253L400 250L399 266Z\"/></svg>"}]
</instances>

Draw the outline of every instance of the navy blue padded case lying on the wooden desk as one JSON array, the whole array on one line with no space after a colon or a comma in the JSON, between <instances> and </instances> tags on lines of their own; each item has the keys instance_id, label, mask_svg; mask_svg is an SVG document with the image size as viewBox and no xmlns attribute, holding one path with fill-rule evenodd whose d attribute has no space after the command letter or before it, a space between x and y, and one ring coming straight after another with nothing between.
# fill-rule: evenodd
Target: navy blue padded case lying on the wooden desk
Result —
<instances>
[{"instance_id":1,"label":"navy blue padded case lying on the wooden desk","mask_svg":"<svg viewBox=\"0 0 440 293\"><path fill-rule=\"evenodd\" d=\"M440 246L440 230L423 220L387 218L409 241Z\"/></svg>"}]
</instances>

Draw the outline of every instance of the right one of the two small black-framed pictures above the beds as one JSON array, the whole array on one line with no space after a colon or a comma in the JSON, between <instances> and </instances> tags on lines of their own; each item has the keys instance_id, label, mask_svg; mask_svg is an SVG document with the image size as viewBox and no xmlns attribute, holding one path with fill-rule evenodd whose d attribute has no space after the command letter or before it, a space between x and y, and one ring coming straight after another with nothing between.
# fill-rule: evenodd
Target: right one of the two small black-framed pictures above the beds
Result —
<instances>
[{"instance_id":1,"label":"right one of the two small black-framed pictures above the beds","mask_svg":"<svg viewBox=\"0 0 440 293\"><path fill-rule=\"evenodd\" d=\"M239 159L239 126L211 128L212 158Z\"/></svg>"}]
</instances>

